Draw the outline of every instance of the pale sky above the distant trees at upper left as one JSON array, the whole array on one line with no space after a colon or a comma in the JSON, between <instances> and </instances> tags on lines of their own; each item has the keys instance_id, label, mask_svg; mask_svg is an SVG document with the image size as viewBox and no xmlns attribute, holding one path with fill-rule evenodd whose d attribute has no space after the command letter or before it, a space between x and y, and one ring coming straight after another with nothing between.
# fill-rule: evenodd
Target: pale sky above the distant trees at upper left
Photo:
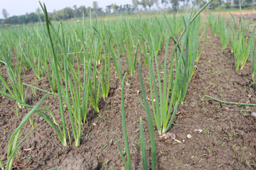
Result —
<instances>
[{"instance_id":1,"label":"pale sky above the distant trees at upper left","mask_svg":"<svg viewBox=\"0 0 256 170\"><path fill-rule=\"evenodd\" d=\"M60 10L65 7L73 7L76 6L91 6L92 1L95 0L41 0L41 3L46 4L46 8L48 12L53 12L53 10ZM96 0L99 7L105 9L107 5L117 4L131 4L132 0ZM26 13L36 12L36 8L38 8L39 2L38 0L0 0L0 18L4 18L2 14L2 10L5 8L9 13L9 16L20 16L25 15Z\"/></svg>"}]
</instances>

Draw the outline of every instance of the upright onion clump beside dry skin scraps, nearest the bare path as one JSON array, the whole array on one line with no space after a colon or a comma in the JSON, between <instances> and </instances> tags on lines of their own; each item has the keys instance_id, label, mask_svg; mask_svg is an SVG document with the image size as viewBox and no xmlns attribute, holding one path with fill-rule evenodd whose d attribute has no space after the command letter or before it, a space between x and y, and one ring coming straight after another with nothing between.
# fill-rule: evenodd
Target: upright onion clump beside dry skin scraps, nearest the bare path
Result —
<instances>
[{"instance_id":1,"label":"upright onion clump beside dry skin scraps, nearest the bare path","mask_svg":"<svg viewBox=\"0 0 256 170\"><path fill-rule=\"evenodd\" d=\"M154 113L154 122L156 123L156 128L159 131L159 135L166 132L171 123L169 123L169 118L172 111L172 106L175 105L174 103L174 94L177 90L177 81L176 85L173 89L173 66L174 66L174 57L171 57L171 69L169 73L169 77L167 74L167 57L168 57L168 45L169 40L166 40L166 53L164 58L164 78L163 78L163 85L161 85L161 76L160 76L160 69L159 69L159 61L157 59L156 53L154 54L149 60L149 86L150 86L150 94L151 94L151 104L152 110ZM151 43L151 50L154 51L154 43ZM156 73L154 71L156 69ZM142 79L142 72L139 70L139 77L141 81L142 91L144 91L144 83ZM155 78L157 77L157 78ZM178 77L178 75L177 75ZM158 88L157 85L158 84ZM171 94L171 101L169 101L170 90L172 91ZM149 107L146 97L144 99L144 108ZM176 102L176 107L178 108L179 101ZM176 113L177 109L174 109L174 114ZM147 113L149 114L149 113Z\"/></svg>"}]
</instances>

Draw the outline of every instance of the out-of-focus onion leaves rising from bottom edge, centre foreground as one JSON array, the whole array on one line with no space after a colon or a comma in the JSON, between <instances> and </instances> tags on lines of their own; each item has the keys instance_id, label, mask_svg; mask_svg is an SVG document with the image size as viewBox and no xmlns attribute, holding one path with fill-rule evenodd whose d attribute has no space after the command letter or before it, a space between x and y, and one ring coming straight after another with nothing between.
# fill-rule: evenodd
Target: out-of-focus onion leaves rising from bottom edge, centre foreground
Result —
<instances>
[{"instance_id":1,"label":"out-of-focus onion leaves rising from bottom edge, centre foreground","mask_svg":"<svg viewBox=\"0 0 256 170\"><path fill-rule=\"evenodd\" d=\"M141 70L141 68L140 68ZM119 154L121 155L122 162L124 163L124 167L127 170L132 170L132 161L131 161L131 154L129 152L129 142L128 142L128 136L127 136L127 126L125 123L125 114L124 114L124 79L126 74L124 74L124 77L122 79L122 91L121 91L121 115L122 115L122 128L123 128L123 134L124 134L124 146L125 146L125 152L127 155L127 161L124 158L124 154L122 152L122 149L119 145L119 142L117 140L117 147L119 150ZM142 91L142 94L144 97L146 97L145 91ZM146 105L148 106L148 105ZM146 108L146 110L149 110L149 108ZM147 112L149 113L149 112ZM152 116L151 114L147 114L147 120L149 125L149 135L151 140L151 169L156 169L156 141L154 138L154 126L152 123ZM140 147L142 151L142 167L144 170L148 169L148 164L146 160L146 144L145 144L145 137L144 137L144 130L142 125L142 118L139 119L139 125L140 125Z\"/></svg>"}]
</instances>

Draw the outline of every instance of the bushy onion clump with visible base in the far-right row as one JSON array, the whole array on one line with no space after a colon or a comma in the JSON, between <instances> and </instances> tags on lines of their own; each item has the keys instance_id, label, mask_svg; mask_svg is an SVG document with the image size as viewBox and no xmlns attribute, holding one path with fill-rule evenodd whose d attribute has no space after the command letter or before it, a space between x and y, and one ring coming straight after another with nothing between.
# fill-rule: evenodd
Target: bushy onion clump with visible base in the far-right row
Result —
<instances>
[{"instance_id":1,"label":"bushy onion clump with visible base in the far-right row","mask_svg":"<svg viewBox=\"0 0 256 170\"><path fill-rule=\"evenodd\" d=\"M241 9L241 1L240 1L240 17L239 21L236 22L234 16L230 13L233 19L233 26L229 27L233 32L233 36L230 37L231 41L233 42L233 52L234 52L234 59L235 59L235 70L238 72L239 69L243 69L245 67L245 63L250 55L250 46L253 43L254 36L250 36L249 38L249 30L250 30L250 21L252 16L249 20L242 20L242 9ZM247 18L247 16L245 17ZM252 30L252 35L255 34L255 28Z\"/></svg>"}]
</instances>

